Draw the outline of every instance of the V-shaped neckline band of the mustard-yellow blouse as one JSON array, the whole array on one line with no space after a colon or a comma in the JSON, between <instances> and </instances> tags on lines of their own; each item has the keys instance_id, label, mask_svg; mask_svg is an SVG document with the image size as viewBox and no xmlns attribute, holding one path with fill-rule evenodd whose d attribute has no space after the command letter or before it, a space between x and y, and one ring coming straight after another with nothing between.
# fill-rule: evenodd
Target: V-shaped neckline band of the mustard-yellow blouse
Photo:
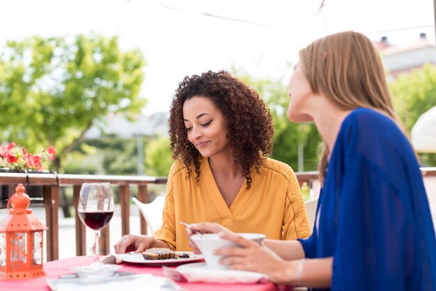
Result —
<instances>
[{"instance_id":1,"label":"V-shaped neckline band of the mustard-yellow blouse","mask_svg":"<svg viewBox=\"0 0 436 291\"><path fill-rule=\"evenodd\" d=\"M245 189L247 180L244 180L238 191L238 194L236 194L232 204L230 205L230 207L228 207L226 201L224 200L224 197L221 194L221 191L219 191L218 184L215 181L215 177L212 173L212 169L210 168L208 158L203 157L203 159L204 167L201 169L201 174L205 175L205 178L210 178L205 180L213 181L211 185L208 185L208 187L210 187L209 189L211 190L210 194L212 196L212 202L215 204L215 207L217 207L217 210L223 219L231 219L233 218L233 216L238 214L242 206L247 203L247 199L249 198L247 189ZM252 186L253 185L251 184L251 187Z\"/></svg>"}]
</instances>

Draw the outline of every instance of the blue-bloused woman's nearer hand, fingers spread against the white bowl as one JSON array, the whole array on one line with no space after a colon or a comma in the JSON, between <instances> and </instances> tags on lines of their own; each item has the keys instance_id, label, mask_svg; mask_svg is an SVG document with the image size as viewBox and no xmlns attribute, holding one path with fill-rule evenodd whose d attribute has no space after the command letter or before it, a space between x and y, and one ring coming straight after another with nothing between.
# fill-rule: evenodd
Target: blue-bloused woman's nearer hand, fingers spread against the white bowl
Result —
<instances>
[{"instance_id":1,"label":"blue-bloused woman's nearer hand, fingers spread against the white bowl","mask_svg":"<svg viewBox=\"0 0 436 291\"><path fill-rule=\"evenodd\" d=\"M295 261L283 260L267 246L251 242L235 233L223 232L219 236L242 246L215 251L216 255L225 257L220 263L229 265L229 269L266 274L274 283L295 282Z\"/></svg>"}]
</instances>

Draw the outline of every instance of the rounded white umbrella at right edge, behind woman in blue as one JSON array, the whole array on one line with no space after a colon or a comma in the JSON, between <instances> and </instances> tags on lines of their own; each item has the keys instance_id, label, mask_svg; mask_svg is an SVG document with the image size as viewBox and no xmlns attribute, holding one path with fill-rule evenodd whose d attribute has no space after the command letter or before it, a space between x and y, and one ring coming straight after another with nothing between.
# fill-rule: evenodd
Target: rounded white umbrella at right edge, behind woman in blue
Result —
<instances>
[{"instance_id":1,"label":"rounded white umbrella at right edge, behind woman in blue","mask_svg":"<svg viewBox=\"0 0 436 291\"><path fill-rule=\"evenodd\" d=\"M436 152L436 106L416 120L412 127L412 143L417 152Z\"/></svg>"}]
</instances>

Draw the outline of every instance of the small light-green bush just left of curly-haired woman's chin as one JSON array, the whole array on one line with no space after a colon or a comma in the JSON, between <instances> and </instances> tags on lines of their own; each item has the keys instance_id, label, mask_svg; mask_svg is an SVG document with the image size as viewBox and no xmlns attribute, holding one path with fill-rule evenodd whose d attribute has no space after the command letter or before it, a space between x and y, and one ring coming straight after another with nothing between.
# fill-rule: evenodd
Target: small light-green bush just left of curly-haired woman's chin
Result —
<instances>
[{"instance_id":1,"label":"small light-green bush just left of curly-haired woman's chin","mask_svg":"<svg viewBox=\"0 0 436 291\"><path fill-rule=\"evenodd\" d=\"M147 175L167 176L173 164L173 152L169 148L168 136L158 136L151 140L146 147Z\"/></svg>"}]
</instances>

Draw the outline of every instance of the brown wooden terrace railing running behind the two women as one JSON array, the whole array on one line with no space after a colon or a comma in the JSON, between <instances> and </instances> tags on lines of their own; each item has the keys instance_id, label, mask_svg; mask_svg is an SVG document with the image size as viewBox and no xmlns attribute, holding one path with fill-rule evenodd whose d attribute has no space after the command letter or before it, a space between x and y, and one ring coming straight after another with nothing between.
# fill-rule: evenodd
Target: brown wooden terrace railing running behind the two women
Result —
<instances>
[{"instance_id":1,"label":"brown wooden terrace railing running behind the two women","mask_svg":"<svg viewBox=\"0 0 436 291\"><path fill-rule=\"evenodd\" d=\"M436 179L436 168L422 168L424 180ZM318 172L296 172L299 183L318 182ZM47 261L59 258L59 190L60 187L72 186L73 204L75 207L76 255L86 255L85 226L77 215L79 191L84 182L110 182L119 187L122 235L130 233L130 187L138 187L138 199L148 203L148 185L166 184L166 178L149 176L121 175L55 175L52 173L0 173L0 185L22 183L43 186L43 203L45 207L47 230ZM319 182L318 182L319 184ZM436 191L436 189L435 189ZM1 219L1 218L0 218ZM141 233L146 234L146 221L141 219ZM109 253L109 226L102 230L100 253Z\"/></svg>"}]
</instances>

